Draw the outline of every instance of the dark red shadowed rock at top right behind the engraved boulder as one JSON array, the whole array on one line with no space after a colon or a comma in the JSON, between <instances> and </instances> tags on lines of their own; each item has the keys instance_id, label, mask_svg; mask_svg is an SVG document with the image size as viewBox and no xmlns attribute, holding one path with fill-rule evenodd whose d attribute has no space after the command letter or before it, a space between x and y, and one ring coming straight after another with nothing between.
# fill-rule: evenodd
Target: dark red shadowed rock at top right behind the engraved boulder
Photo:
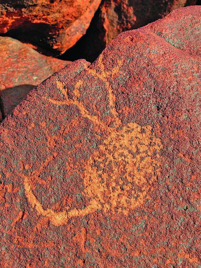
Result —
<instances>
[{"instance_id":1,"label":"dark red shadowed rock at top right behind the engraved boulder","mask_svg":"<svg viewBox=\"0 0 201 268\"><path fill-rule=\"evenodd\" d=\"M108 45L120 32L142 27L168 15L170 11L196 1L184 0L106 0L101 6L99 24L105 28L104 41Z\"/></svg>"}]
</instances>

